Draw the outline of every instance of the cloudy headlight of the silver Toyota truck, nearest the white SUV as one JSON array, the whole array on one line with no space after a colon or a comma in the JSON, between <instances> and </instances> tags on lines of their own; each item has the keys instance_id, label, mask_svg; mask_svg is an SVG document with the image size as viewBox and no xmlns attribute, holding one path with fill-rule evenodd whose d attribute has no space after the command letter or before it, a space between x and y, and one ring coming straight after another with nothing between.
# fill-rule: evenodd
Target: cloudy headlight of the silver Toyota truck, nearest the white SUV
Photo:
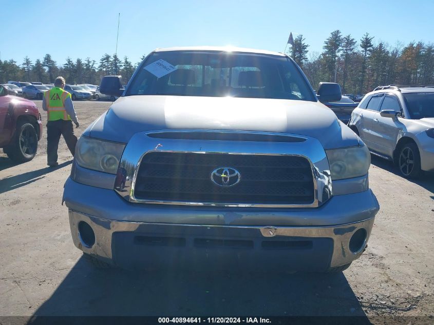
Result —
<instances>
[{"instance_id":1,"label":"cloudy headlight of the silver Toyota truck, nearest the white SUV","mask_svg":"<svg viewBox=\"0 0 434 325\"><path fill-rule=\"evenodd\" d=\"M366 145L326 152L332 180L360 177L368 173L371 155Z\"/></svg>"}]
</instances>

